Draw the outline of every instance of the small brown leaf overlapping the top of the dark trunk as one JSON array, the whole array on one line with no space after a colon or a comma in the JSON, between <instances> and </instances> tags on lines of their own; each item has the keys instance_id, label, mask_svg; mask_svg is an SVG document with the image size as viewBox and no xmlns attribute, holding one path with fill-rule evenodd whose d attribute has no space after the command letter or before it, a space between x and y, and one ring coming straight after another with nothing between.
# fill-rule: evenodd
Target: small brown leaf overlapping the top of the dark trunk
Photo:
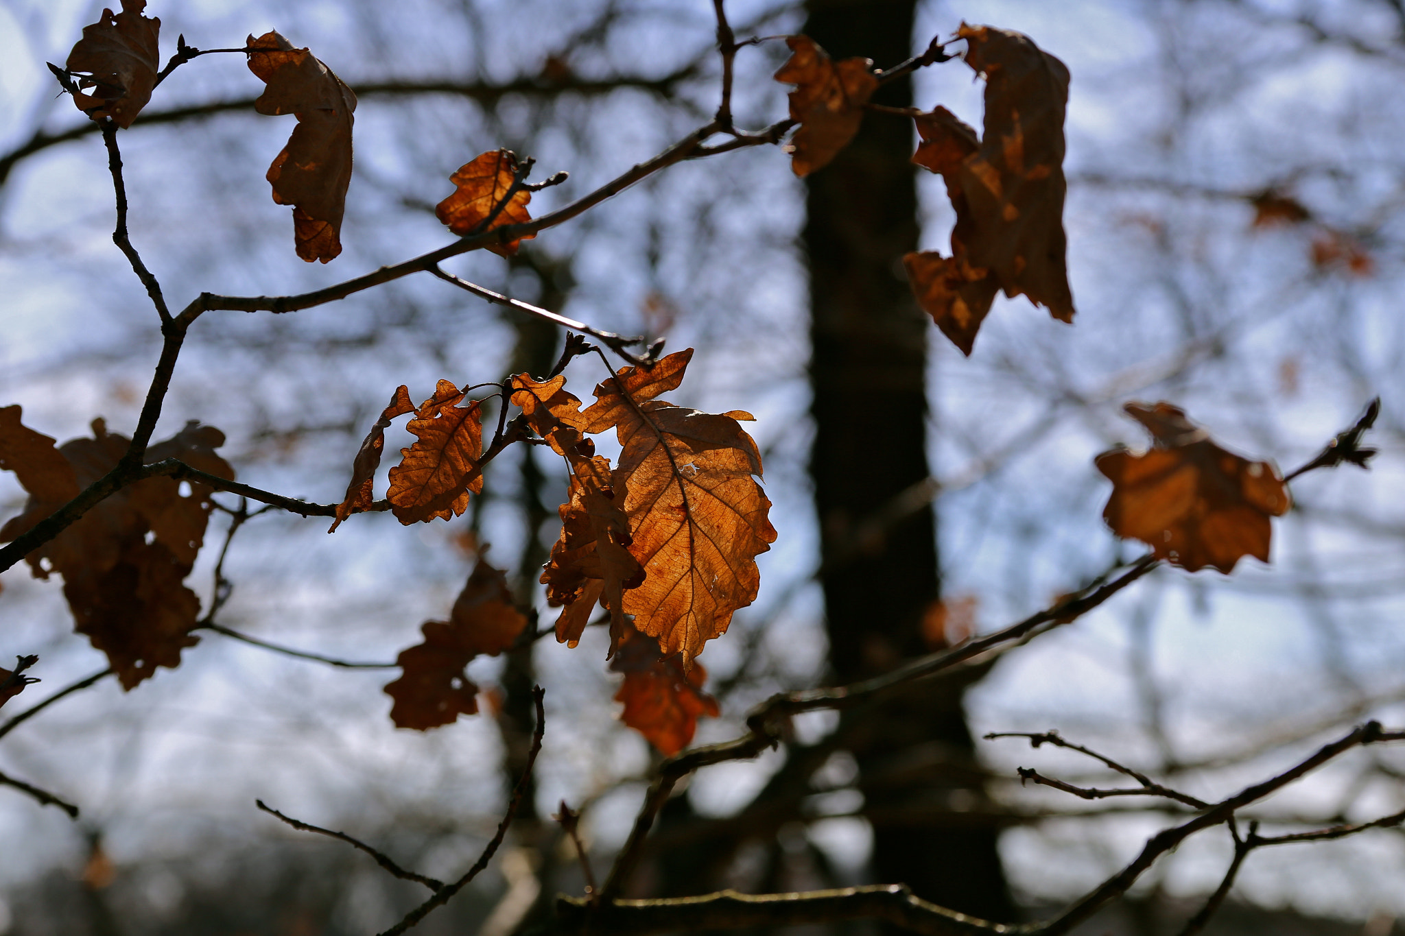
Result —
<instances>
[{"instance_id":1,"label":"small brown leaf overlapping the top of the dark trunk","mask_svg":"<svg viewBox=\"0 0 1405 936\"><path fill-rule=\"evenodd\" d=\"M790 93L790 111L799 123L785 152L791 154L791 170L804 177L829 166L854 139L864 119L864 104L878 90L878 79L871 59L835 62L809 36L792 35L785 45L791 58L776 80L797 86Z\"/></svg>"}]
</instances>

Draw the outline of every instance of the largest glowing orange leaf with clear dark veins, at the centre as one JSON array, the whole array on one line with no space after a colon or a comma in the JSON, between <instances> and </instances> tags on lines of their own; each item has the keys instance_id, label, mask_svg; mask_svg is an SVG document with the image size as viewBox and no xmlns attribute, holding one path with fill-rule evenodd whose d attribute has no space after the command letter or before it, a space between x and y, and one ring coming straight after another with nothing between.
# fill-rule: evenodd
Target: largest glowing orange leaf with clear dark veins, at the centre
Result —
<instances>
[{"instance_id":1,"label":"largest glowing orange leaf with clear dark veins, at the centre","mask_svg":"<svg viewBox=\"0 0 1405 936\"><path fill-rule=\"evenodd\" d=\"M756 556L776 540L756 481L762 457L738 424L752 417L656 399L679 386L691 358L688 348L649 369L622 368L584 411L587 432L614 428L622 446L614 487L627 491L629 553L648 573L624 592L624 612L684 665L756 599Z\"/></svg>"}]
</instances>

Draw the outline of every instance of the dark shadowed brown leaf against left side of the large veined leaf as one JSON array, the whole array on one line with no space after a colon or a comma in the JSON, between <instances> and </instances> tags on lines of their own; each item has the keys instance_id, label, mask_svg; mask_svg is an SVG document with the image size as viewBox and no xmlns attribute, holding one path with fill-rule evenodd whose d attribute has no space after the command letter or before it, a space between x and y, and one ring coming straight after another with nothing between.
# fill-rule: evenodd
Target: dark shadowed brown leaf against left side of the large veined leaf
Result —
<instances>
[{"instance_id":1,"label":"dark shadowed brown leaf against left side of the large veined leaf","mask_svg":"<svg viewBox=\"0 0 1405 936\"><path fill-rule=\"evenodd\" d=\"M576 457L573 464L570 500L559 508L561 537L551 549L541 582L547 585L547 603L562 606L558 643L575 647L580 641L596 602L610 609L613 655L629 627L624 592L638 588L645 573L628 549L632 540L624 480L613 476L603 456Z\"/></svg>"}]
</instances>

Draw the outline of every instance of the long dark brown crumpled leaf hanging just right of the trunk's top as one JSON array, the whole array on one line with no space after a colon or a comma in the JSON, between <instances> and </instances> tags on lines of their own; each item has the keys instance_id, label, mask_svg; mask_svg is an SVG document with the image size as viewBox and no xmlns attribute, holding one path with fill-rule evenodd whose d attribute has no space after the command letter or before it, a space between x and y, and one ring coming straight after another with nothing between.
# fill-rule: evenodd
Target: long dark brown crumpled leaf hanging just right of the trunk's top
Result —
<instances>
[{"instance_id":1,"label":"long dark brown crumpled leaf hanging just right of the trunk's top","mask_svg":"<svg viewBox=\"0 0 1405 936\"><path fill-rule=\"evenodd\" d=\"M969 355L995 293L1026 295L1073 320L1064 234L1068 69L1028 36L961 24L965 62L985 74L985 133L946 108L916 118L913 161L939 173L957 213L951 257L905 258L913 293Z\"/></svg>"}]
</instances>

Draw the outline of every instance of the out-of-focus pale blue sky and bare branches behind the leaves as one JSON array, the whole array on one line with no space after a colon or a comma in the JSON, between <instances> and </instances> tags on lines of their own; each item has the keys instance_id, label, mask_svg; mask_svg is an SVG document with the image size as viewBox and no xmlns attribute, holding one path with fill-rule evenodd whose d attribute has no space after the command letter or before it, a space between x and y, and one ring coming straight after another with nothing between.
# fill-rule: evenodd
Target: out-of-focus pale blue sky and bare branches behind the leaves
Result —
<instances>
[{"instance_id":1,"label":"out-of-focus pale blue sky and bare branches behind the leaves","mask_svg":"<svg viewBox=\"0 0 1405 936\"><path fill-rule=\"evenodd\" d=\"M728 8L739 36L798 31L808 15L794 3ZM216 48L277 28L360 95L346 251L309 267L263 178L289 126L253 112L260 84L242 56L202 58L159 88L122 152L133 241L177 306L200 290L315 288L445 243L433 205L448 194L448 174L479 152L531 154L541 177L569 170L566 185L534 198L541 213L652 156L715 107L714 20L701 0L208 0L149 13L163 21L167 53L178 32ZM67 133L84 121L55 97L44 67L96 14L90 3L0 4L0 401L22 404L28 425L59 439L86 432L96 415L129 431L157 347L140 285L110 241L101 142ZM919 493L934 495L943 594L962 602L974 627L1023 616L1132 554L1100 521L1107 484L1090 464L1113 443L1142 443L1120 414L1125 400L1170 400L1227 446L1291 467L1371 396L1384 399L1373 470L1294 484L1272 567L1246 563L1228 578L1156 573L999 660L964 696L971 731L1058 728L1210 796L1287 763L1324 731L1366 716L1399 721L1405 100L1394 88L1405 72L1405 10L1392 0L930 0L915 17L912 51L962 20L989 22L1027 32L1073 74L1065 220L1076 324L1002 299L969 359L924 330L927 413L917 428L934 480ZM770 79L783 58L778 42L740 53L739 125L784 116L787 88ZM940 102L974 125L979 95L960 63L915 77L919 107ZM940 181L924 174L917 198L922 246L946 248L953 218ZM701 741L732 737L747 707L777 689L832 678L816 581L805 223L805 187L783 153L762 147L652 177L524 243L511 261L478 253L450 264L575 319L697 347L679 403L756 414L749 428L780 539L760 559L756 605L708 647L722 717L700 726ZM157 432L190 418L218 425L240 480L334 502L396 385L422 399L438 377L541 372L561 340L427 276L296 314L209 313ZM587 361L568 375L577 393L599 379ZM871 387L851 393L871 394L874 413L884 406ZM388 445L407 438L395 429ZM263 515L230 549L235 591L221 623L389 662L417 641L423 620L444 615L475 553L507 567L524 602L541 603L537 566L563 493L558 466L528 449L495 462L485 497L454 523L402 528L364 515L327 537L322 521ZM6 515L21 502L13 477L0 476ZM207 596L212 553L191 577ZM17 567L0 584L0 650L38 653L32 672L44 678L6 714L104 667L72 634L55 582ZM100 682L0 742L0 769L83 807L73 824L0 790L10 843L0 932L384 928L417 900L412 885L361 855L298 838L254 811L254 797L450 874L496 827L504 765L524 745L521 683L535 679L548 689L548 728L531 814L490 873L422 930L530 926L551 894L582 884L549 820L556 803L584 807L603 866L656 758L614 720L617 676L603 657L601 634L590 633L573 651L541 641L517 658L478 661L473 678L500 688L499 714L420 735L391 727L386 672L207 633L180 669L129 695ZM680 880L670 856L697 848L697 824L680 820L673 838L660 834L642 892L868 881L875 822L941 822L998 834L1014 898L1037 908L1118 867L1159 821L1135 808L1087 817L1080 801L1021 789L1017 763L1037 761L1072 782L1086 765L1013 741L978 742L975 759L951 755L967 789L948 790L946 818L895 817L894 803L860 790L853 756L823 747L836 727L806 716L785 751L700 773L679 804L726 838L726 860L717 880ZM726 822L804 751L823 756L806 762L767 836ZM1399 810L1402 770L1398 754L1357 752L1262 815ZM1214 887L1228 853L1227 839L1189 843L1096 932L1163 932L1186 900ZM1235 900L1280 915L1235 911L1243 915L1227 916L1221 925L1234 929L1222 932L1284 933L1309 926L1298 916L1333 916L1349 923L1302 932L1364 926L1383 936L1405 915L1405 838L1383 831L1269 850L1239 880Z\"/></svg>"}]
</instances>

